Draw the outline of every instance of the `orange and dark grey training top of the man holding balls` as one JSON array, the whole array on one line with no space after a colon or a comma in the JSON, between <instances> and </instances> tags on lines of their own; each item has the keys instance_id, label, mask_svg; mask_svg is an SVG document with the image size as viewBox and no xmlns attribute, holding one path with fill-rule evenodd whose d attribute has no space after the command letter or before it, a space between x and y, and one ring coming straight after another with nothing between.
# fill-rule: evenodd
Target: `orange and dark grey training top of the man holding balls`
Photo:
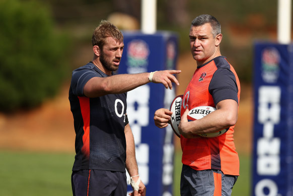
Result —
<instances>
[{"instance_id":1,"label":"orange and dark grey training top of the man holding balls","mask_svg":"<svg viewBox=\"0 0 293 196\"><path fill-rule=\"evenodd\" d=\"M239 104L240 82L224 56L218 56L197 67L183 95L181 115L188 108L215 107L222 100ZM234 126L215 138L186 139L181 136L182 163L195 170L216 169L224 174L239 175L239 157L235 149Z\"/></svg>"}]
</instances>

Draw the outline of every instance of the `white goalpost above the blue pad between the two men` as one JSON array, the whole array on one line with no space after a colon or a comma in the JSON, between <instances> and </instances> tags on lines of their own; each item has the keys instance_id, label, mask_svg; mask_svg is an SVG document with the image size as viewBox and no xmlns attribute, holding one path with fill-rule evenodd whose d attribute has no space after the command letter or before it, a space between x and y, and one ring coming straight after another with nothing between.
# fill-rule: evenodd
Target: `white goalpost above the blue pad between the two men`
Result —
<instances>
[{"instance_id":1,"label":"white goalpost above the blue pad between the two men","mask_svg":"<svg viewBox=\"0 0 293 196\"><path fill-rule=\"evenodd\" d=\"M157 28L157 0L141 0L141 31L153 34Z\"/></svg>"}]
</instances>

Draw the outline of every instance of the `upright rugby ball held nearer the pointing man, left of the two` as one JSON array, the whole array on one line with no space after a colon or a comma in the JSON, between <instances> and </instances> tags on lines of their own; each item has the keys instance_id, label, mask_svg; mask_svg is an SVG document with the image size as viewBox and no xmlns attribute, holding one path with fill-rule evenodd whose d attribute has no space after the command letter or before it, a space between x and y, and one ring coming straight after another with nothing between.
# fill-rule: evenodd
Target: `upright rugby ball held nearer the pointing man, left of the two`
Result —
<instances>
[{"instance_id":1,"label":"upright rugby ball held nearer the pointing man, left of the two","mask_svg":"<svg viewBox=\"0 0 293 196\"><path fill-rule=\"evenodd\" d=\"M178 125L181 120L181 114L180 114L181 112L180 111L181 111L182 97L183 97L183 95L178 95L177 97L174 98L174 100L172 101L172 103L170 105L170 111L173 112L171 115L170 124L173 129L173 132L179 138L180 138L181 134L179 133Z\"/></svg>"}]
</instances>

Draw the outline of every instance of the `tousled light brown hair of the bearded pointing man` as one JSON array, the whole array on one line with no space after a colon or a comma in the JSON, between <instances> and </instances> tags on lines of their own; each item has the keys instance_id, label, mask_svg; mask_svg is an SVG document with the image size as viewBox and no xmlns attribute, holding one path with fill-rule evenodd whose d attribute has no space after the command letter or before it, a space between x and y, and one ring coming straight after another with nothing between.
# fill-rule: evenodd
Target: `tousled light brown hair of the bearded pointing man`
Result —
<instances>
[{"instance_id":1,"label":"tousled light brown hair of the bearded pointing man","mask_svg":"<svg viewBox=\"0 0 293 196\"><path fill-rule=\"evenodd\" d=\"M123 34L121 31L109 21L102 20L93 32L93 46L97 45L102 49L107 37L112 37L118 43L123 43Z\"/></svg>"}]
</instances>

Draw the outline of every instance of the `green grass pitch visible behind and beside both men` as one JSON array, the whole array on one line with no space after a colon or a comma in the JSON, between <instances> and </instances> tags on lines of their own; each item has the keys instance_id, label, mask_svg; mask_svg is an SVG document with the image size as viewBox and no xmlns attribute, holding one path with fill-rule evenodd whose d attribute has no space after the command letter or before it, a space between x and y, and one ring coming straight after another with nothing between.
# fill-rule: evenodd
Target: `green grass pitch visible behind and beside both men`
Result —
<instances>
[{"instance_id":1,"label":"green grass pitch visible behind and beside both men","mask_svg":"<svg viewBox=\"0 0 293 196\"><path fill-rule=\"evenodd\" d=\"M0 195L72 195L72 154L0 151ZM181 154L175 154L174 196L179 196ZM250 158L240 156L241 176L232 195L250 193Z\"/></svg>"}]
</instances>

